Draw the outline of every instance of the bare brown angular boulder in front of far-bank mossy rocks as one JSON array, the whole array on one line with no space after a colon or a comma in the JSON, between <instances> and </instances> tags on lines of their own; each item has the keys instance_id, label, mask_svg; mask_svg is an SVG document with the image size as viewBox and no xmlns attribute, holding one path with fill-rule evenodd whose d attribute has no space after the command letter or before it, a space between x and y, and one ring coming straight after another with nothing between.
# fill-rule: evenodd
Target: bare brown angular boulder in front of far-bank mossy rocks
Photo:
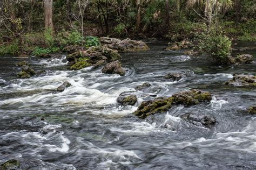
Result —
<instances>
[{"instance_id":1,"label":"bare brown angular boulder in front of far-bank mossy rocks","mask_svg":"<svg viewBox=\"0 0 256 170\"><path fill-rule=\"evenodd\" d=\"M105 74L119 74L119 75L124 75L124 70L121 67L120 61L112 61L110 63L107 63L106 66L103 67L102 73Z\"/></svg>"}]
</instances>

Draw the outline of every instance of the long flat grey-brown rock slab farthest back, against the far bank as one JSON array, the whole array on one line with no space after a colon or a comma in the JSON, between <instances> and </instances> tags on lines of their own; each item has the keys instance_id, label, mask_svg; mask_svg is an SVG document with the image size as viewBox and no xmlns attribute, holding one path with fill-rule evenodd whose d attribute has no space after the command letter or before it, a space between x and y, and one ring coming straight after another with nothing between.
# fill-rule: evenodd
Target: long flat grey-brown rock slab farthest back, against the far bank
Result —
<instances>
[{"instance_id":1,"label":"long flat grey-brown rock slab farthest back, against the far bank","mask_svg":"<svg viewBox=\"0 0 256 170\"><path fill-rule=\"evenodd\" d=\"M117 49L119 52L137 52L149 49L145 42L131 40L129 38L119 40L117 38L101 37L99 40L101 44L105 44L111 49Z\"/></svg>"}]
</instances>

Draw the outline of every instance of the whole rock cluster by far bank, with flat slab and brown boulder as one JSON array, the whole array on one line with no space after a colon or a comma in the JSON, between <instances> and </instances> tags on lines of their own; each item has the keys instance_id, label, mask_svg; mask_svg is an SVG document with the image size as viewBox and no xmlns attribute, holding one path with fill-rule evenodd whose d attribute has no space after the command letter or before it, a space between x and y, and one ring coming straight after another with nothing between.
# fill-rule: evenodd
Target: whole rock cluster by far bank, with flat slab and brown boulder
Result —
<instances>
[{"instance_id":1,"label":"whole rock cluster by far bank, with flat slab and brown boulder","mask_svg":"<svg viewBox=\"0 0 256 170\"><path fill-rule=\"evenodd\" d=\"M89 66L106 65L102 73L124 75L125 71L117 61L121 58L118 52L144 51L149 47L142 41L119 40L116 38L102 37L99 39L101 46L89 47L86 51L78 51L66 56L68 66L72 70L79 70Z\"/></svg>"}]
</instances>

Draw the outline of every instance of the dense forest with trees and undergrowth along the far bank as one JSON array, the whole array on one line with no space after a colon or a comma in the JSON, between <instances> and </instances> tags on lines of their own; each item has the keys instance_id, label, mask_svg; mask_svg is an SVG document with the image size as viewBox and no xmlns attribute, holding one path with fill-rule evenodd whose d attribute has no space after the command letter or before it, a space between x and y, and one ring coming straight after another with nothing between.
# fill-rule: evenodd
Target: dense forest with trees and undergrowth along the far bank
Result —
<instances>
[{"instance_id":1,"label":"dense forest with trees and undergrowth along the far bank","mask_svg":"<svg viewBox=\"0 0 256 170\"><path fill-rule=\"evenodd\" d=\"M107 36L186 40L193 51L226 56L232 40L256 40L255 9L254 0L3 0L0 54L83 50Z\"/></svg>"}]
</instances>

